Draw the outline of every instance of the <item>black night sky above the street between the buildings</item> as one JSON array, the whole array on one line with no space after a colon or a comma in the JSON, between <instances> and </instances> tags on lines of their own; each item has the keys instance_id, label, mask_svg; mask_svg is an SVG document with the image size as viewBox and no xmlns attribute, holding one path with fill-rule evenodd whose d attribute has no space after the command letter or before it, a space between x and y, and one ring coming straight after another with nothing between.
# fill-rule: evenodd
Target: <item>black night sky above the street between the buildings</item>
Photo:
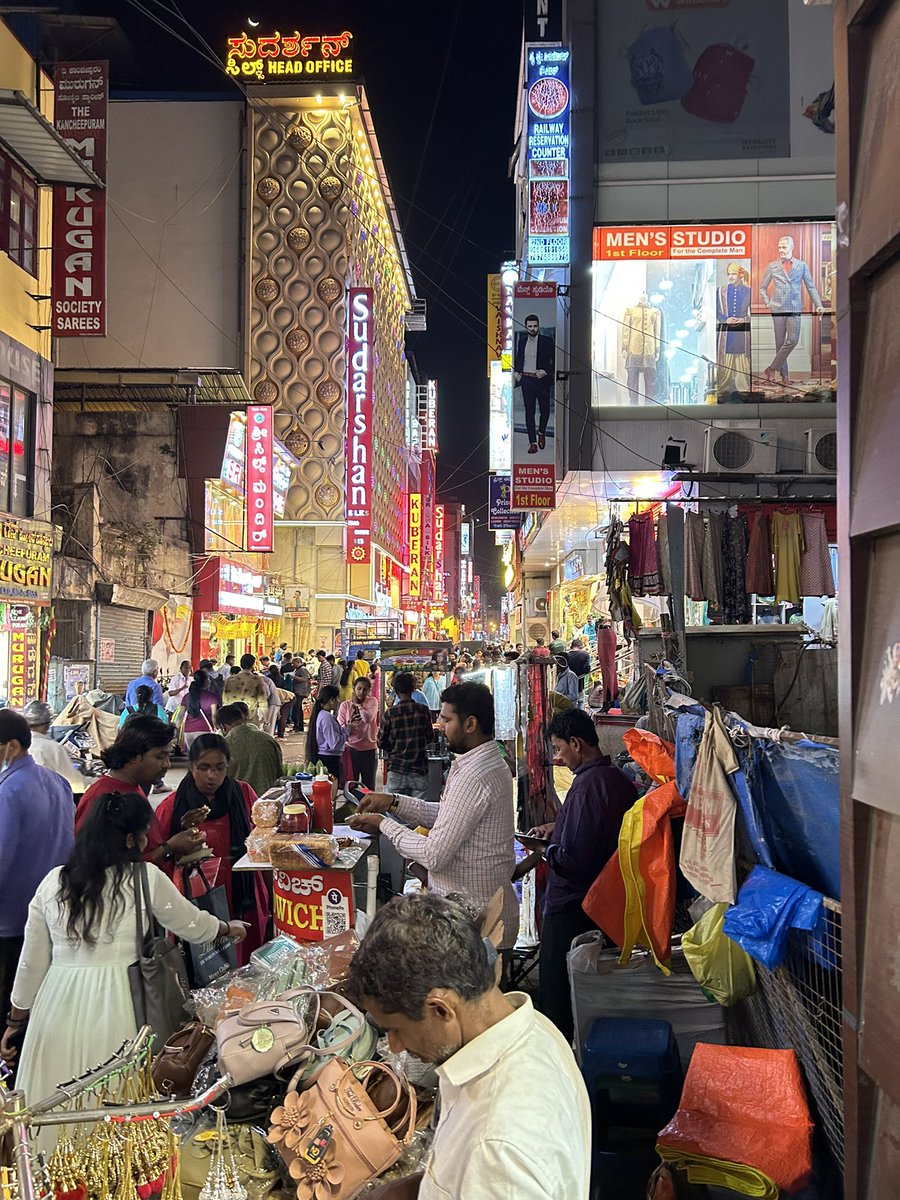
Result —
<instances>
[{"instance_id":1,"label":"black night sky above the street between the buildings","mask_svg":"<svg viewBox=\"0 0 900 1200\"><path fill-rule=\"evenodd\" d=\"M115 91L234 86L146 14L152 12L191 41L176 16L176 0L80 0L60 7L118 18L137 60L118 70L113 61ZM368 94L416 292L428 302L427 332L413 334L407 346L421 374L439 382L439 487L481 518L475 569L481 571L486 598L496 601L497 554L485 506L487 443L479 446L487 436L485 276L514 250L514 191L506 164L512 150L521 0L253 6L185 0L180 12L222 58L228 36L251 31L248 17L259 22L260 32L353 31L354 59Z\"/></svg>"}]
</instances>

